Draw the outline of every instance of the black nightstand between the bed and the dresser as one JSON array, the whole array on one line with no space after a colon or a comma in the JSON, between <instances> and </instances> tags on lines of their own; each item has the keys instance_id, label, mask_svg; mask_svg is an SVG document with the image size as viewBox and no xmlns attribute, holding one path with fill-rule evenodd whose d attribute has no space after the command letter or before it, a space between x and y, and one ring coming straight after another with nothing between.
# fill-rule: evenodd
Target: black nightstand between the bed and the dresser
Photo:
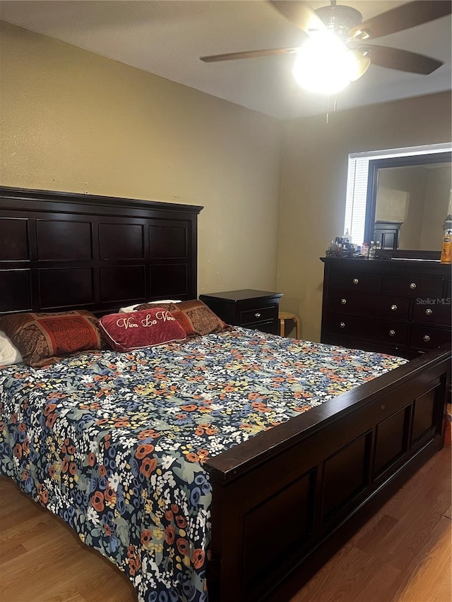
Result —
<instances>
[{"instance_id":1,"label":"black nightstand between the bed and the dresser","mask_svg":"<svg viewBox=\"0 0 452 602\"><path fill-rule=\"evenodd\" d=\"M283 293L243 289L200 295L199 299L227 324L277 335L278 306L282 296Z\"/></svg>"}]
</instances>

